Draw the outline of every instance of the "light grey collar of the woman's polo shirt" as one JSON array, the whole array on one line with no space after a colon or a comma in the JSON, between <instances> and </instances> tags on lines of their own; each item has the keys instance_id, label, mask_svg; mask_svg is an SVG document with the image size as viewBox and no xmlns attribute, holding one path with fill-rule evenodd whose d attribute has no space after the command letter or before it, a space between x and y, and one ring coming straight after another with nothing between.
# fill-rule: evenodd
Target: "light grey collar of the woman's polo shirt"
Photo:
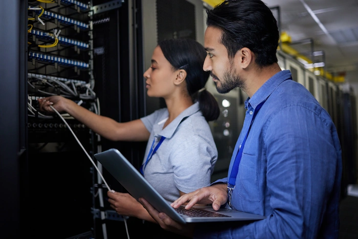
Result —
<instances>
[{"instance_id":1,"label":"light grey collar of the woman's polo shirt","mask_svg":"<svg viewBox=\"0 0 358 239\"><path fill-rule=\"evenodd\" d=\"M183 111L182 113L180 113L180 115L178 115L172 122L170 122L170 124L168 124L162 131L159 132L158 135L164 136L165 138L171 138L176 130L176 128L179 126L179 124L187 117L195 114L196 112L198 112L199 109L199 102L195 102L193 105L191 105L190 107L186 108L185 111ZM158 128L162 128L163 124L165 123L162 122L162 124L156 124L155 127Z\"/></svg>"}]
</instances>

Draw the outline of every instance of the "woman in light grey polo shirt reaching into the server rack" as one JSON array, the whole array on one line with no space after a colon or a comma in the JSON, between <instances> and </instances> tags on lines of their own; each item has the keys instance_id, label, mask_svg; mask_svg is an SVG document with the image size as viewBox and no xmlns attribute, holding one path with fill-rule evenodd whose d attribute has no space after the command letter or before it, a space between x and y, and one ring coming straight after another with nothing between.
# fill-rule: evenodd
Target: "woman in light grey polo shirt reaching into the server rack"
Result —
<instances>
[{"instance_id":1,"label":"woman in light grey polo shirt reaching into the server rack","mask_svg":"<svg viewBox=\"0 0 358 239\"><path fill-rule=\"evenodd\" d=\"M203 71L206 54L195 40L160 42L144 77L148 96L163 97L167 107L141 119L117 122L61 96L39 99L40 108L53 112L52 105L109 140L148 141L141 172L171 203L185 193L209 185L217 160L208 121L218 118L219 107L204 88L209 77L209 72ZM119 214L155 223L130 194L108 191L107 195L111 207Z\"/></svg>"}]
</instances>

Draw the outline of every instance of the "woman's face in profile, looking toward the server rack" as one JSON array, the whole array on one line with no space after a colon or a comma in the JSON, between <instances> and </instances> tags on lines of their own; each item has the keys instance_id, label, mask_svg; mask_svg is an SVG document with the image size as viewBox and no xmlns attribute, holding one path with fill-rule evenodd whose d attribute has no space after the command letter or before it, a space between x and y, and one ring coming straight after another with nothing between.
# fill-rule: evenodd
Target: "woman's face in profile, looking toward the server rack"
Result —
<instances>
[{"instance_id":1,"label":"woman's face in profile, looking toward the server rack","mask_svg":"<svg viewBox=\"0 0 358 239\"><path fill-rule=\"evenodd\" d=\"M174 91L176 71L173 71L159 46L154 49L151 65L143 76L146 78L147 94L150 97L166 98Z\"/></svg>"}]
</instances>

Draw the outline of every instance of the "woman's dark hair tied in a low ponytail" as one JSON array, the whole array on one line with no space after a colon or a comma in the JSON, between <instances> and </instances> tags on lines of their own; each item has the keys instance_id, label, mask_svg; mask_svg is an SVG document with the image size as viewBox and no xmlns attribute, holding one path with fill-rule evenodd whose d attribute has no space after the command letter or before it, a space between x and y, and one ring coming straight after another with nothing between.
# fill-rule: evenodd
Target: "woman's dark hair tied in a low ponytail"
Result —
<instances>
[{"instance_id":1,"label":"woman's dark hair tied in a low ponytail","mask_svg":"<svg viewBox=\"0 0 358 239\"><path fill-rule=\"evenodd\" d=\"M187 72L185 81L188 93L193 102L199 102L205 119L216 120L220 114L219 105L214 96L203 89L210 75L210 72L203 70L207 55L204 47L195 40L182 38L163 40L158 46L174 70L183 69Z\"/></svg>"}]
</instances>

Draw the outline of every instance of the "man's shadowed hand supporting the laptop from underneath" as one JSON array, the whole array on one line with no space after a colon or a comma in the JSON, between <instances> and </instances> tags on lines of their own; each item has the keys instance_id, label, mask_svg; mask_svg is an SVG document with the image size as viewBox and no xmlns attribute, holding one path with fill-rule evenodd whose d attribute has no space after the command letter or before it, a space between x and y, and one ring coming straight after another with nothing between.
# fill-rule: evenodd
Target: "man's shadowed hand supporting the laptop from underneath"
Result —
<instances>
[{"instance_id":1,"label":"man's shadowed hand supporting the laptop from underneath","mask_svg":"<svg viewBox=\"0 0 358 239\"><path fill-rule=\"evenodd\" d=\"M138 200L149 212L152 218L164 229L184 236L192 237L194 224L181 224L169 218L164 212L155 210L145 199Z\"/></svg>"}]
</instances>

